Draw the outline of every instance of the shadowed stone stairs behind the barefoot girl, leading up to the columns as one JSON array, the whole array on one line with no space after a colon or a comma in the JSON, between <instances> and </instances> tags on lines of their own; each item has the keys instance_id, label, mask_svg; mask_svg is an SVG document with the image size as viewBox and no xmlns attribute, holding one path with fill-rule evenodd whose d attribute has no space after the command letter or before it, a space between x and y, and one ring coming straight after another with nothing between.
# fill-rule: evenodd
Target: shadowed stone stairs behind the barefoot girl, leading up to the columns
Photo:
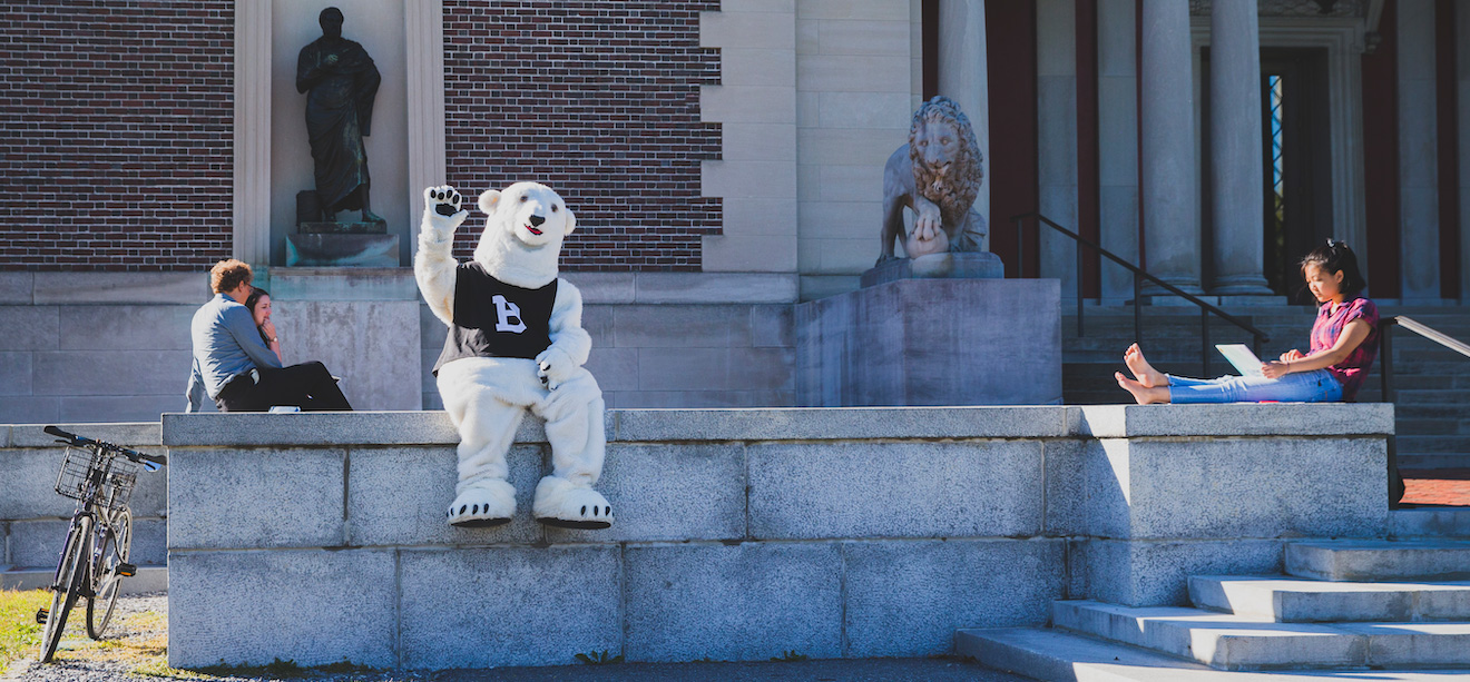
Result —
<instances>
[{"instance_id":1,"label":"shadowed stone stairs behind the barefoot girl, leading up to the columns","mask_svg":"<svg viewBox=\"0 0 1470 682\"><path fill-rule=\"evenodd\" d=\"M1085 329L1078 335L1076 309L1063 304L1061 387L1066 404L1116 404L1127 400L1113 372L1126 372L1123 348L1133 342L1130 306L1088 306ZM1307 306L1226 307L1272 337L1263 353L1305 348L1313 309ZM1454 338L1470 340L1470 309L1385 306L1385 316L1407 315ZM1250 344L1233 325L1211 320L1210 342ZM1213 350L1201 372L1200 313L1195 307L1144 309L1144 351L1160 370L1186 376L1220 376L1233 369ZM1263 356L1264 357L1264 356ZM1402 469L1470 467L1470 359L1416 334L1394 334L1394 385L1398 462ZM1358 394L1382 400L1382 365L1373 369Z\"/></svg>"}]
</instances>

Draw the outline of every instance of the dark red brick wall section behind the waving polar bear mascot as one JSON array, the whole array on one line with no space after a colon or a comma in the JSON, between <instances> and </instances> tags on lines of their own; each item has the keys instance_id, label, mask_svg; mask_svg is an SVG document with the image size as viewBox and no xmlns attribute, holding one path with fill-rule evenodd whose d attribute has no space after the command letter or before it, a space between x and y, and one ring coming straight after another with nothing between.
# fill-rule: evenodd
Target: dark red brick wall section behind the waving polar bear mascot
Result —
<instances>
[{"instance_id":1,"label":"dark red brick wall section behind the waving polar bear mascot","mask_svg":"<svg viewBox=\"0 0 1470 682\"><path fill-rule=\"evenodd\" d=\"M720 129L700 122L700 85L719 51L700 49L700 12L719 1L445 0L448 181L466 193L538 181L576 212L562 265L581 270L700 270L720 200L700 162ZM470 256L463 231L456 256Z\"/></svg>"}]
</instances>

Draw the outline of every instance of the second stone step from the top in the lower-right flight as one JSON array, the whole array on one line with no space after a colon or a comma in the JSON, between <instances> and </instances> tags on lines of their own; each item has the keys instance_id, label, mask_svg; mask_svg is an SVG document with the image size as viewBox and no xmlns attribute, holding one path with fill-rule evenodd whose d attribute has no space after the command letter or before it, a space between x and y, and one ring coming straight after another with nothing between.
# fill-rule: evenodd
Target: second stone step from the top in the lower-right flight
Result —
<instances>
[{"instance_id":1,"label":"second stone step from the top in the lower-right flight","mask_svg":"<svg viewBox=\"0 0 1470 682\"><path fill-rule=\"evenodd\" d=\"M1470 620L1470 582L1189 576L1189 601L1200 609L1282 623Z\"/></svg>"}]
</instances>

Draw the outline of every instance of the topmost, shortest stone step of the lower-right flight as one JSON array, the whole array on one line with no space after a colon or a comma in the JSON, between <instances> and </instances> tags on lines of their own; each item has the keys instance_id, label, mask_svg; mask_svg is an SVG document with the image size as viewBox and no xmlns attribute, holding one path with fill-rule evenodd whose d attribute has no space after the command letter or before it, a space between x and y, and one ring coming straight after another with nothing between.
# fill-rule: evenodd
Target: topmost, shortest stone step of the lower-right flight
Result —
<instances>
[{"instance_id":1,"label":"topmost, shortest stone step of the lower-right flight","mask_svg":"<svg viewBox=\"0 0 1470 682\"><path fill-rule=\"evenodd\" d=\"M1336 539L1286 544L1286 573L1314 581L1470 581L1470 542Z\"/></svg>"}]
</instances>

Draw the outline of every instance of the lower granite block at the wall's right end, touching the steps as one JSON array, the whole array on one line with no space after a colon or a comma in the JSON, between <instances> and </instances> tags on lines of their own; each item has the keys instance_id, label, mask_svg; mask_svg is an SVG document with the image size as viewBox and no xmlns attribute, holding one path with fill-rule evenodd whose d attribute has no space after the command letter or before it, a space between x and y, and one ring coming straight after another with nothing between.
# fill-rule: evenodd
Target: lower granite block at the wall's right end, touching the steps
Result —
<instances>
[{"instance_id":1,"label":"lower granite block at the wall's right end, touching the steps","mask_svg":"<svg viewBox=\"0 0 1470 682\"><path fill-rule=\"evenodd\" d=\"M1277 539L1088 539L1080 550L1086 595L1123 606L1183 606L1192 575L1263 575L1282 567Z\"/></svg>"}]
</instances>

